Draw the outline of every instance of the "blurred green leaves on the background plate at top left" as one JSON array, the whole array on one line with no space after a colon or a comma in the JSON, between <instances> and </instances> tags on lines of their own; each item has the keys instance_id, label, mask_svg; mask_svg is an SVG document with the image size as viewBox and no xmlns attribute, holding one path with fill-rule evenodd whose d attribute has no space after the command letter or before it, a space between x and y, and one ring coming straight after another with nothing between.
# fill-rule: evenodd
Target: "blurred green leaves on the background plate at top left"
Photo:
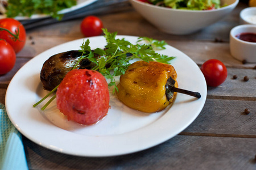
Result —
<instances>
[{"instance_id":1,"label":"blurred green leaves on the background plate at top left","mask_svg":"<svg viewBox=\"0 0 256 170\"><path fill-rule=\"evenodd\" d=\"M14 18L15 16L30 17L33 14L47 14L60 20L63 15L57 12L76 4L76 0L9 0L6 15Z\"/></svg>"}]
</instances>

